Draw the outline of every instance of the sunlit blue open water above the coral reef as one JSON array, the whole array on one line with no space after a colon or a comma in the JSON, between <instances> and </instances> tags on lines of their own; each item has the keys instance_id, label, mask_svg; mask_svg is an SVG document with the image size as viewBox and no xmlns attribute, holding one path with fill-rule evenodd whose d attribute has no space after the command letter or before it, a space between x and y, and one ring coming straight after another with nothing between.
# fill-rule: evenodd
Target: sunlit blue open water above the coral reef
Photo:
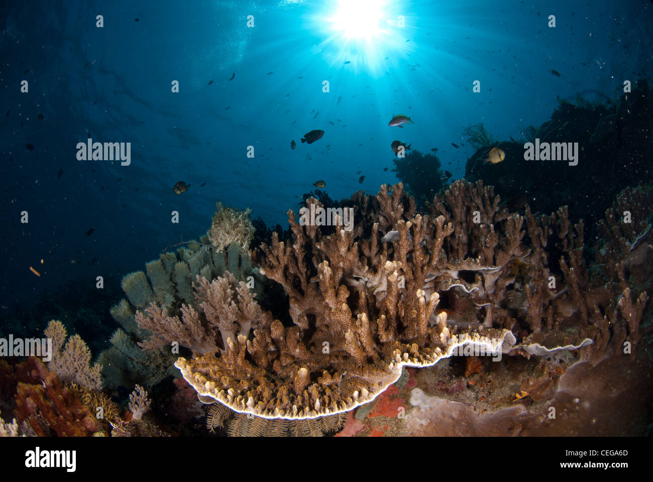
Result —
<instances>
[{"instance_id":1,"label":"sunlit blue open water above the coral reef","mask_svg":"<svg viewBox=\"0 0 653 482\"><path fill-rule=\"evenodd\" d=\"M624 80L650 76L650 1L379 3L372 40L330 21L337 1L0 7L0 315L71 280L118 286L169 244L204 234L215 202L285 226L317 180L333 199L398 182L395 139L438 148L455 180L474 152L461 137L470 123L518 138L550 118L556 96L616 98ZM414 123L389 127L392 114ZM300 143L313 129L324 137ZM79 161L89 135L130 142L131 164ZM189 191L175 195L178 181Z\"/></svg>"}]
</instances>

